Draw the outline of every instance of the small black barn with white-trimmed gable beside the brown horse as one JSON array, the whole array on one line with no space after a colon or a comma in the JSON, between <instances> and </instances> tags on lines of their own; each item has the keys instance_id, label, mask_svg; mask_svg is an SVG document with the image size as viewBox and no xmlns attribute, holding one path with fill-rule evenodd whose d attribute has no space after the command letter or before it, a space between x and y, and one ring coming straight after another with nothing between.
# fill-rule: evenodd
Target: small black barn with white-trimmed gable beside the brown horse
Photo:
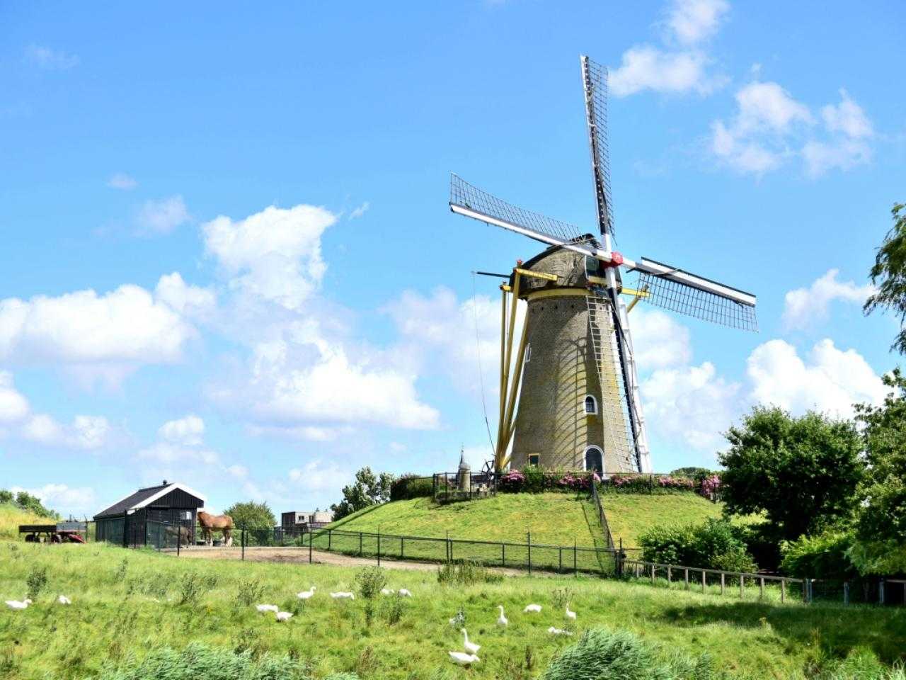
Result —
<instances>
[{"instance_id":1,"label":"small black barn with white-trimmed gable beside the brown horse","mask_svg":"<svg viewBox=\"0 0 906 680\"><path fill-rule=\"evenodd\" d=\"M159 486L140 489L94 516L97 539L122 546L159 545L160 532L171 529L173 537L188 533L195 540L195 516L207 499L185 484L164 480Z\"/></svg>"}]
</instances>

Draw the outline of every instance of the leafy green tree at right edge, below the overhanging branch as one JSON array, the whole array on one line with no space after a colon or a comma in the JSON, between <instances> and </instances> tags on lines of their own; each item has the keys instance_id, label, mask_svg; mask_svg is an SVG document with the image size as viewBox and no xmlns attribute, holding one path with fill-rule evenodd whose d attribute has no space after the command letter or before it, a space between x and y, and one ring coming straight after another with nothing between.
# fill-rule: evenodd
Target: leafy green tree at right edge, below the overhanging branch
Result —
<instances>
[{"instance_id":1,"label":"leafy green tree at right edge, below the overhanging branch","mask_svg":"<svg viewBox=\"0 0 906 680\"><path fill-rule=\"evenodd\" d=\"M880 559L880 570L885 553L906 546L906 376L898 368L883 381L892 392L882 405L856 406L868 462L856 535L863 562Z\"/></svg>"}]
</instances>

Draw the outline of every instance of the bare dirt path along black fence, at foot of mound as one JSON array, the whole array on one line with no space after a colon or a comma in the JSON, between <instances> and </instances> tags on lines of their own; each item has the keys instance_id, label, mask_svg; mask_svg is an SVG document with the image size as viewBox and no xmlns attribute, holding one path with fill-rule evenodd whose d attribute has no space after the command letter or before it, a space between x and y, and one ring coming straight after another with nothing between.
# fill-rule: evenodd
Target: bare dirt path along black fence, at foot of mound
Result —
<instances>
[{"instance_id":1,"label":"bare dirt path along black fence, at foot of mound","mask_svg":"<svg viewBox=\"0 0 906 680\"><path fill-rule=\"evenodd\" d=\"M176 557L176 550L164 550ZM238 548L207 548L197 546L191 549L183 549L179 552L180 558L189 559L241 559L242 550ZM308 549L306 548L246 548L246 561L248 562L277 562L277 563L295 563L308 564ZM342 553L326 552L323 550L312 551L313 564L329 564L335 567L373 567L377 559L374 558L357 558L352 555L343 555ZM400 559L381 558L381 567L390 569L405 569L416 571L436 571L439 567L437 562L417 562ZM505 574L506 576L528 576L525 569L509 569L500 567L490 567L493 571ZM532 576L544 577L564 577L564 574L555 574L550 571L533 570Z\"/></svg>"}]
</instances>

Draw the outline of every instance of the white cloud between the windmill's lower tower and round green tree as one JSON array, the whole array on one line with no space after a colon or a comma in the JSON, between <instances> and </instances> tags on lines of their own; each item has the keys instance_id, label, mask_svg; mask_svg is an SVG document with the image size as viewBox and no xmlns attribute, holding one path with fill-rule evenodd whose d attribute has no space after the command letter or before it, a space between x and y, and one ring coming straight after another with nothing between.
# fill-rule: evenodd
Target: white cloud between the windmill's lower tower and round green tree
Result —
<instances>
[{"instance_id":1,"label":"white cloud between the windmill's lower tower and round green tree","mask_svg":"<svg viewBox=\"0 0 906 680\"><path fill-rule=\"evenodd\" d=\"M691 449L720 448L724 443L721 432L740 410L740 385L719 376L710 362L660 369L641 381L640 388L642 413L651 433Z\"/></svg>"}]
</instances>

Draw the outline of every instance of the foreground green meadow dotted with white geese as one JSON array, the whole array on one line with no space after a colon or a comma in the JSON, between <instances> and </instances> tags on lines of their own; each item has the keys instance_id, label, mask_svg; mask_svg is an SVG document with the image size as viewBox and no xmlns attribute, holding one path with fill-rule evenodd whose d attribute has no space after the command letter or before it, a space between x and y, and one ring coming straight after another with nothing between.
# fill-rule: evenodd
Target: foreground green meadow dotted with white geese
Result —
<instances>
[{"instance_id":1,"label":"foreground green meadow dotted with white geese","mask_svg":"<svg viewBox=\"0 0 906 680\"><path fill-rule=\"evenodd\" d=\"M381 597L367 629L361 598L327 595L354 590L357 568L188 560L98 544L0 543L0 599L21 599L26 579L41 568L47 582L34 605L0 611L0 676L90 678L105 663L196 641L255 655L289 653L319 678L355 671L362 680L527 680L569 644L546 633L564 626L553 608L560 588L572 591L576 633L628 629L665 657L707 652L733 678L819 677L847 655L892 663L906 650L903 608L778 607L597 578L506 578L454 587L440 585L433 571L388 570L390 588L409 588L413 597L400 600L404 609L392 625L392 599ZM310 585L318 592L300 607L294 593ZM276 604L294 618L278 623L242 604L240 594L255 587L260 593L252 602ZM197 595L188 597L194 589ZM58 594L71 597L72 606L55 604ZM542 605L542 613L523 614L529 602ZM494 625L498 604L510 619L506 629ZM448 650L461 648L448 625L460 608L470 637L482 645L482 662L470 670L447 659Z\"/></svg>"}]
</instances>

